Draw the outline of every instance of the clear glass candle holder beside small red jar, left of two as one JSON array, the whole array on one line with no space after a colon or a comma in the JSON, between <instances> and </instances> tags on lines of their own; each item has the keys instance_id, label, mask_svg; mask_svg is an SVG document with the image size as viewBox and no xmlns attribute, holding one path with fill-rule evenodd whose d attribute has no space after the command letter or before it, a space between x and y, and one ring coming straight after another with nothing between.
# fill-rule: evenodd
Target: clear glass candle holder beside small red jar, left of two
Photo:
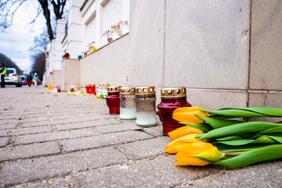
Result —
<instances>
[{"instance_id":1,"label":"clear glass candle holder beside small red jar, left of two","mask_svg":"<svg viewBox=\"0 0 282 188\"><path fill-rule=\"evenodd\" d=\"M121 87L119 89L121 120L136 120L135 87Z\"/></svg>"}]
</instances>

